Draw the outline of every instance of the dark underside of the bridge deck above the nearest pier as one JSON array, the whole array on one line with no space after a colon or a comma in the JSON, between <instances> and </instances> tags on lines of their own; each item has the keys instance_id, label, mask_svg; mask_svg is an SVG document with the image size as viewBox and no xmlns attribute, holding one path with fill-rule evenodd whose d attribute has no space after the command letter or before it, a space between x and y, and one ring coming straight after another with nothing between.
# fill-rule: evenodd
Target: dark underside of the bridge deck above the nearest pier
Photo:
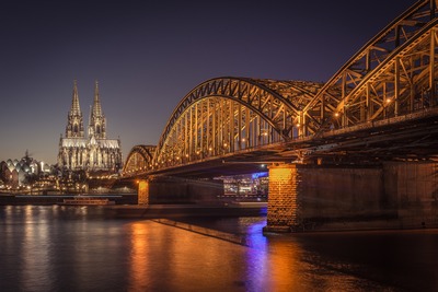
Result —
<instances>
[{"instance_id":1,"label":"dark underside of the bridge deck above the nearest pier","mask_svg":"<svg viewBox=\"0 0 438 292\"><path fill-rule=\"evenodd\" d=\"M399 120L397 120L399 119ZM293 142L283 156L324 163L376 163L379 161L438 161L438 108L327 132Z\"/></svg>"}]
</instances>

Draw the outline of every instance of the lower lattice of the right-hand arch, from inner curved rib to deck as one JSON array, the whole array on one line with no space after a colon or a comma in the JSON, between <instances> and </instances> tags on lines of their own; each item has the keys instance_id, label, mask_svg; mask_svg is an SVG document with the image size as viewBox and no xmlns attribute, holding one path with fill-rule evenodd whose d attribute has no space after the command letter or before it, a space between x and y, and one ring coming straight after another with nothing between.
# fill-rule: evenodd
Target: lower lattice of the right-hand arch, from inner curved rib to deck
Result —
<instances>
[{"instance_id":1,"label":"lower lattice of the right-hand arch, from inner curved rib to deck","mask_svg":"<svg viewBox=\"0 0 438 292\"><path fill-rule=\"evenodd\" d=\"M399 116L430 107L434 101L438 20L426 25L381 62L373 74L339 102L335 113L345 115L343 127ZM433 82L430 82L433 75ZM425 103L425 95L428 101ZM339 117L341 118L341 117ZM332 117L333 120L333 117Z\"/></svg>"}]
</instances>

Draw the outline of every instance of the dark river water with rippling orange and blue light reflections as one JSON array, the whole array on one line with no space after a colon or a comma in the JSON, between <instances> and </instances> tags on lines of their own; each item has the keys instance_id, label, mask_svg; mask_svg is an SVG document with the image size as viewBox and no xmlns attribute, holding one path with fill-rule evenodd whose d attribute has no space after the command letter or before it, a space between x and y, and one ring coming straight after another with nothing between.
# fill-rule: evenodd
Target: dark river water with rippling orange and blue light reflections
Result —
<instances>
[{"instance_id":1,"label":"dark river water with rippling orange and blue light reflections","mask_svg":"<svg viewBox=\"0 0 438 292\"><path fill-rule=\"evenodd\" d=\"M264 236L265 218L104 210L0 207L0 291L438 291L438 230Z\"/></svg>"}]
</instances>

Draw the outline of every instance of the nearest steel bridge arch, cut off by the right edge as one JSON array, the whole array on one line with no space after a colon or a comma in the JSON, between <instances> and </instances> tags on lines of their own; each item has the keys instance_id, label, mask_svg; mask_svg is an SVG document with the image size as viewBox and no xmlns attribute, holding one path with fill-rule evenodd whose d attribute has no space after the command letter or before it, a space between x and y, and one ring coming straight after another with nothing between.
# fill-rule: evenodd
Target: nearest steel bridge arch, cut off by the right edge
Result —
<instances>
[{"instance_id":1,"label":"nearest steel bridge arch, cut off by the right edge","mask_svg":"<svg viewBox=\"0 0 438 292\"><path fill-rule=\"evenodd\" d=\"M436 0L418 1L371 38L303 108L303 135L436 105Z\"/></svg>"}]
</instances>

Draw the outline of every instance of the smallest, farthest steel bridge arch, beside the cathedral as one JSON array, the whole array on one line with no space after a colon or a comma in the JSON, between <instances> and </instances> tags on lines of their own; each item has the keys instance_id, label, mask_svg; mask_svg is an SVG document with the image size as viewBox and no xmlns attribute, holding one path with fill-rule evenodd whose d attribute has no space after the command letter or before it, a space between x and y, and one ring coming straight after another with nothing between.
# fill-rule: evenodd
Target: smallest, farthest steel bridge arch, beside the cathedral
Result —
<instances>
[{"instance_id":1,"label":"smallest, farthest steel bridge arch, beside the cathedral","mask_svg":"<svg viewBox=\"0 0 438 292\"><path fill-rule=\"evenodd\" d=\"M155 148L155 145L135 145L126 157L123 173L135 175L149 168L152 165Z\"/></svg>"}]
</instances>

